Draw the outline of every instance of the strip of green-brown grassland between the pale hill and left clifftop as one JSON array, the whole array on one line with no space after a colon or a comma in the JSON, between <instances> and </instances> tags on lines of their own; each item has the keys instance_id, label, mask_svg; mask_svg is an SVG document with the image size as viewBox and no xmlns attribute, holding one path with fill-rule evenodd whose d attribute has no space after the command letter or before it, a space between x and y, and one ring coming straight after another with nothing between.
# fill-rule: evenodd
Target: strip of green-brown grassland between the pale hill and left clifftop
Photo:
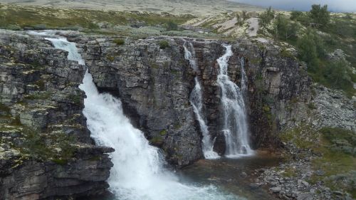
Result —
<instances>
[{"instance_id":1,"label":"strip of green-brown grassland between the pale hill and left clifftop","mask_svg":"<svg viewBox=\"0 0 356 200\"><path fill-rule=\"evenodd\" d=\"M53 9L48 7L6 5L0 8L1 28L70 29L75 27L98 29L95 21L105 21L112 26L144 23L146 26L181 24L191 15L155 14L147 12L99 11L88 9Z\"/></svg>"}]
</instances>

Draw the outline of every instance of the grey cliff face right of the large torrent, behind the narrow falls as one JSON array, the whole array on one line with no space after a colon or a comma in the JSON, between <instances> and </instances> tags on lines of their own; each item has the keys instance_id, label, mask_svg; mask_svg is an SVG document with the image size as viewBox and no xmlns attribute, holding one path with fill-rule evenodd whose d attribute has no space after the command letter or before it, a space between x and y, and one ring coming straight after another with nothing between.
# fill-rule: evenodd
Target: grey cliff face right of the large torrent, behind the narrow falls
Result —
<instances>
[{"instance_id":1,"label":"grey cliff face right of the large torrent, behind the narrow falls","mask_svg":"<svg viewBox=\"0 0 356 200\"><path fill-rule=\"evenodd\" d=\"M120 46L113 38L72 39L82 49L98 88L120 98L132 123L152 144L164 149L169 162L179 166L202 157L199 123L189 102L196 74L184 59L183 48L185 41L192 42L207 125L211 136L216 137L214 148L224 154L221 95L216 83L216 59L225 51L222 41L160 37L127 40ZM169 45L162 46L166 41ZM234 55L229 60L229 76L237 85L241 81L240 59L245 60L251 144L256 148L278 147L277 130L303 121L305 102L310 100L310 79L293 58L293 51L251 41L231 45Z\"/></svg>"}]
</instances>

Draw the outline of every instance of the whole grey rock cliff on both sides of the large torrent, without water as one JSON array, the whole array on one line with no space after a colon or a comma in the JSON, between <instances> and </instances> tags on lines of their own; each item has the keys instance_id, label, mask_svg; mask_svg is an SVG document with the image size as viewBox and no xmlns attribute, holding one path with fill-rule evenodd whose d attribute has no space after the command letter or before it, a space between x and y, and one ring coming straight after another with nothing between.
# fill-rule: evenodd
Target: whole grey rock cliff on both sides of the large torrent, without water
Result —
<instances>
[{"instance_id":1,"label":"whole grey rock cliff on both sides of the large torrent, without water","mask_svg":"<svg viewBox=\"0 0 356 200\"><path fill-rule=\"evenodd\" d=\"M216 83L222 41L159 37L117 45L111 36L66 37L77 43L99 90L120 98L132 124L179 167L203 157L199 122L189 102L197 75L214 148L224 154ZM184 58L186 41L196 51L197 72ZM229 77L241 85L241 58L248 75L251 144L278 148L276 132L308 116L310 79L293 51L248 40L230 44ZM85 66L66 57L40 37L0 35L0 199L85 196L108 187L112 164L107 153L113 149L90 140L78 88Z\"/></svg>"}]
</instances>

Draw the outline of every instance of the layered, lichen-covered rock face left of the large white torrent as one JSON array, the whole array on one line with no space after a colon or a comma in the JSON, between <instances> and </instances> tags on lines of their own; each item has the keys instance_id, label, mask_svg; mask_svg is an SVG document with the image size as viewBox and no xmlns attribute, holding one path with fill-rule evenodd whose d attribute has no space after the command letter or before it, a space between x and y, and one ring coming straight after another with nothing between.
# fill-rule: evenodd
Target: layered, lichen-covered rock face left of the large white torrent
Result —
<instances>
[{"instance_id":1,"label":"layered, lichen-covered rock face left of the large white torrent","mask_svg":"<svg viewBox=\"0 0 356 200\"><path fill-rule=\"evenodd\" d=\"M0 33L0 199L104 192L113 149L90 140L85 66L40 37Z\"/></svg>"}]
</instances>

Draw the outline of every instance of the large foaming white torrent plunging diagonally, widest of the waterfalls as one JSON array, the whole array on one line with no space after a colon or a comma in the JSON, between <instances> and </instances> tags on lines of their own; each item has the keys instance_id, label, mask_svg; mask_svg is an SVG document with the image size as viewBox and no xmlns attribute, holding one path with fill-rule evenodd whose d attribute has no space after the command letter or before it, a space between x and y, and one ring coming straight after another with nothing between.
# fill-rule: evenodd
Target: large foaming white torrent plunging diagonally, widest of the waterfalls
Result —
<instances>
[{"instance_id":1,"label":"large foaming white torrent plunging diagonally, widest of the waterfalls","mask_svg":"<svg viewBox=\"0 0 356 200\"><path fill-rule=\"evenodd\" d=\"M48 38L53 46L68 51L68 59L85 64L74 43L66 38ZM85 73L80 89L85 92L88 129L97 144L112 147L110 191L120 200L238 200L215 186L181 184L174 174L162 167L163 159L150 146L140 130L130 124L122 112L120 100L98 93L90 73Z\"/></svg>"}]
</instances>

